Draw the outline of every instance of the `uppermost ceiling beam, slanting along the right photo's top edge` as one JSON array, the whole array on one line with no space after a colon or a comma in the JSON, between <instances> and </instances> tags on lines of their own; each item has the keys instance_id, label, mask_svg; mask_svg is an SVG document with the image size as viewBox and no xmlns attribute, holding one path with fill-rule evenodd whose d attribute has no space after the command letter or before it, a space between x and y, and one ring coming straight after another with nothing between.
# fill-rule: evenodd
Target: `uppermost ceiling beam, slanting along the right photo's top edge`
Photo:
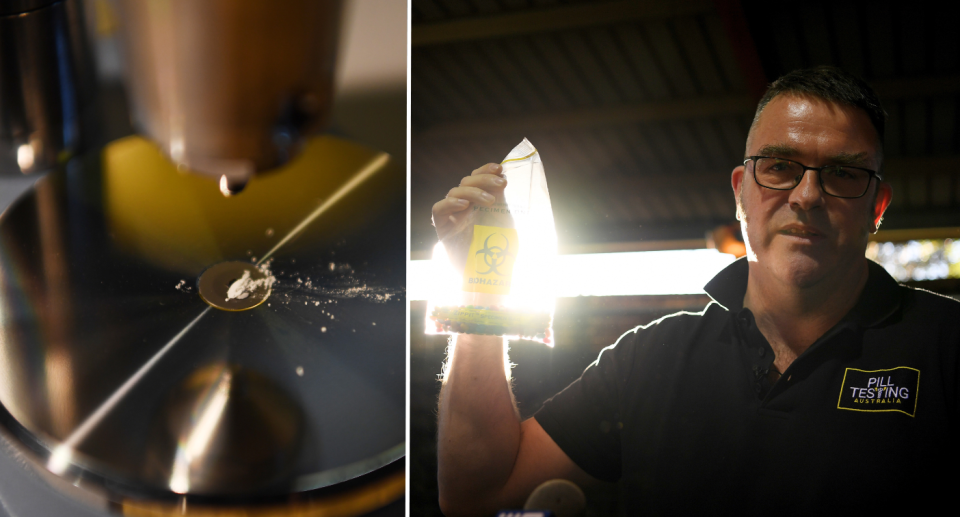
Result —
<instances>
[{"instance_id":1,"label":"uppermost ceiling beam, slanting along the right photo's top edge","mask_svg":"<svg viewBox=\"0 0 960 517\"><path fill-rule=\"evenodd\" d=\"M416 24L412 26L410 44L413 47L422 47L627 21L695 16L711 12L714 12L714 6L709 0L686 0L683 2L617 0L576 4Z\"/></svg>"}]
</instances>

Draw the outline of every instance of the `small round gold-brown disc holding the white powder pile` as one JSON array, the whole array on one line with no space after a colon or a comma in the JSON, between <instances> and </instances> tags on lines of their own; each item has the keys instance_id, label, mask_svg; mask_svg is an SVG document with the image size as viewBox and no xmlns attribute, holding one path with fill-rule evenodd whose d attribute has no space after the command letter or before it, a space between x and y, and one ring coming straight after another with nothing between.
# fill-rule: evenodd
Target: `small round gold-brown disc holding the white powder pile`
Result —
<instances>
[{"instance_id":1,"label":"small round gold-brown disc holding the white powder pile","mask_svg":"<svg viewBox=\"0 0 960 517\"><path fill-rule=\"evenodd\" d=\"M243 282L230 292L236 282ZM221 262L200 275L197 283L203 301L222 311L245 311L270 296L271 279L249 262Z\"/></svg>"}]
</instances>

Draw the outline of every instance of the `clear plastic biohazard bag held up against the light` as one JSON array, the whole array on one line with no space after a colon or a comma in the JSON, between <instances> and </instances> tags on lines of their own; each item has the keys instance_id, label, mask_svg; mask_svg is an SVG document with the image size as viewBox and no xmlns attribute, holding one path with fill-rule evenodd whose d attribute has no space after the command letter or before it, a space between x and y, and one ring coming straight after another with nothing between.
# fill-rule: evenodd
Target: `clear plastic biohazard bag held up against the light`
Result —
<instances>
[{"instance_id":1,"label":"clear plastic biohazard bag held up against the light","mask_svg":"<svg viewBox=\"0 0 960 517\"><path fill-rule=\"evenodd\" d=\"M426 332L489 334L553 346L557 233L543 163L524 139L502 166L503 196L491 207L471 205L434 252L435 264L446 270L441 274L446 292L431 296Z\"/></svg>"}]
</instances>

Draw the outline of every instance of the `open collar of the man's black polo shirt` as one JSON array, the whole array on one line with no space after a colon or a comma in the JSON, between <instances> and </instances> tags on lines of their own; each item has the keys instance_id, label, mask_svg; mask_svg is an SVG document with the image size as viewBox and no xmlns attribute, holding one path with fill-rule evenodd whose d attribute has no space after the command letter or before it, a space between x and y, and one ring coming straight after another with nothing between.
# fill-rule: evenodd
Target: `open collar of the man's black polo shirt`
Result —
<instances>
[{"instance_id":1,"label":"open collar of the man's black polo shirt","mask_svg":"<svg viewBox=\"0 0 960 517\"><path fill-rule=\"evenodd\" d=\"M844 321L853 321L862 327L872 327L887 319L900 307L900 286L882 266L867 260L869 277L860 293L860 299ZM743 297L747 294L747 277L750 268L746 257L735 260L717 273L703 290L715 302L732 312L743 309Z\"/></svg>"}]
</instances>

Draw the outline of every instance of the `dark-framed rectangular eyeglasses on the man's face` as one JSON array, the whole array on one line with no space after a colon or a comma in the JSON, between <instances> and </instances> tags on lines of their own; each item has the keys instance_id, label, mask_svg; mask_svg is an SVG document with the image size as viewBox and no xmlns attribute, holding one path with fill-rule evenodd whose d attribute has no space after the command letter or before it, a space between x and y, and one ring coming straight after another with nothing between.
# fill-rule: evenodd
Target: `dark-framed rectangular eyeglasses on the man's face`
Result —
<instances>
[{"instance_id":1,"label":"dark-framed rectangular eyeglasses on the man's face","mask_svg":"<svg viewBox=\"0 0 960 517\"><path fill-rule=\"evenodd\" d=\"M773 190L791 190L803 181L803 175L808 171L817 171L820 177L820 188L834 197L847 199L863 197L870 188L870 180L880 175L877 171L850 167L848 165L824 165L823 167L807 167L802 163L784 158L770 156L750 156L743 161L743 165L753 161L753 179L757 185Z\"/></svg>"}]
</instances>

